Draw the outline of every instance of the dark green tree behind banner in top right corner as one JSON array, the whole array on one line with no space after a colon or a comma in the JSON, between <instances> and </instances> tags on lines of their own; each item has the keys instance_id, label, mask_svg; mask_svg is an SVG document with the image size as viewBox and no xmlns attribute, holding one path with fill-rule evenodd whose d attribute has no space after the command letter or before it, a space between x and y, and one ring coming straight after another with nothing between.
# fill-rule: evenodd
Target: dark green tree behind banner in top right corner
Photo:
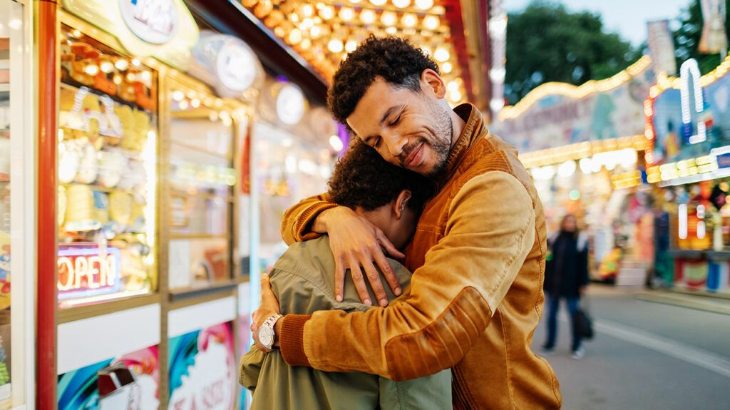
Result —
<instances>
[{"instance_id":1,"label":"dark green tree behind banner in top right corner","mask_svg":"<svg viewBox=\"0 0 730 410\"><path fill-rule=\"evenodd\" d=\"M725 4L726 10L730 10L730 0L726 0ZM682 11L677 21L679 22L679 28L674 31L677 68L689 58L694 58L702 74L714 70L721 63L720 56L718 54L700 54L697 50L699 39L702 37L702 26L704 25L700 1L692 0L690 5ZM730 19L728 18L725 19L725 33L730 33Z\"/></svg>"}]
</instances>

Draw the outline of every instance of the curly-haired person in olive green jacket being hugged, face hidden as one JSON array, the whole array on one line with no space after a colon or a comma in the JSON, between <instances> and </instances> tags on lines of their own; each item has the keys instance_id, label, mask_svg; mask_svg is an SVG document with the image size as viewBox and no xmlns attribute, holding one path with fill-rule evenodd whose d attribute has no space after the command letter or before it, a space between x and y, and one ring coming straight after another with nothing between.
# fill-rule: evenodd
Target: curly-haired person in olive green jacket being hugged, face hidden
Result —
<instances>
[{"instance_id":1,"label":"curly-haired person in olive green jacket being hugged, face hidden","mask_svg":"<svg viewBox=\"0 0 730 410\"><path fill-rule=\"evenodd\" d=\"M353 209L385 232L396 247L410 241L418 215L433 189L414 172L385 162L377 152L356 142L337 163L327 193L331 201ZM410 271L388 260L401 287ZM283 313L312 314L339 309L364 312L352 282L345 300L335 301L334 258L328 236L293 244L274 264L270 281ZM371 295L372 297L372 295ZM388 298L395 296L388 293ZM451 372L407 382L392 382L365 373L336 373L292 367L278 352L266 355L255 347L241 360L240 380L253 391L257 409L434 409L451 406Z\"/></svg>"}]
</instances>

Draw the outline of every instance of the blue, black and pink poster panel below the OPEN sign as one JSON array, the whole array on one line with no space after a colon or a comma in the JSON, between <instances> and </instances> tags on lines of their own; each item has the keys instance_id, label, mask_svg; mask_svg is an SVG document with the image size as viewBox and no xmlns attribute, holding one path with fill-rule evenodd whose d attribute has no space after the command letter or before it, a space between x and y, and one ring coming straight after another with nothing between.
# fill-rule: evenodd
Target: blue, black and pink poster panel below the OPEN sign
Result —
<instances>
[{"instance_id":1,"label":"blue, black and pink poster panel below the OPEN sign","mask_svg":"<svg viewBox=\"0 0 730 410\"><path fill-rule=\"evenodd\" d=\"M155 410L160 405L158 347L147 347L120 357L103 360L93 365L69 371L58 376L58 410L99 409L97 382L99 371L112 365L125 365L136 377L130 400L138 404L136 409Z\"/></svg>"}]
</instances>

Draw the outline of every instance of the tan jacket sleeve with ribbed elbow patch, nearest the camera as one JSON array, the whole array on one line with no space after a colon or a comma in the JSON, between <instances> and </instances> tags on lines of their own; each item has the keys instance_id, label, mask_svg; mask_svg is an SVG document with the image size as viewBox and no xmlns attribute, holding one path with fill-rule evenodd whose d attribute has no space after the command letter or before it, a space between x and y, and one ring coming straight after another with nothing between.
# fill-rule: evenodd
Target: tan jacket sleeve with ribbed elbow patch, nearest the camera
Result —
<instances>
[{"instance_id":1,"label":"tan jacket sleeve with ribbed elbow patch, nearest the camera","mask_svg":"<svg viewBox=\"0 0 730 410\"><path fill-rule=\"evenodd\" d=\"M510 174L461 187L445 237L426 254L410 294L383 309L288 315L280 344L290 365L415 379L453 367L489 325L535 238L534 204Z\"/></svg>"}]
</instances>

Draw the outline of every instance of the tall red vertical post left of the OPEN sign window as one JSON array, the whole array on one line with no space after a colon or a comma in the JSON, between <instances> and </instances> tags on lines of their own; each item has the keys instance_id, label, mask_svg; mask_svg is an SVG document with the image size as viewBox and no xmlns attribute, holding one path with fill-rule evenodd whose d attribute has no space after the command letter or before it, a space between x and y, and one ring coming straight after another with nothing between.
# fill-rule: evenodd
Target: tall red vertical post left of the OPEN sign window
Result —
<instances>
[{"instance_id":1,"label":"tall red vertical post left of the OPEN sign window","mask_svg":"<svg viewBox=\"0 0 730 410\"><path fill-rule=\"evenodd\" d=\"M56 408L56 9L38 2L38 280L36 408Z\"/></svg>"}]
</instances>

